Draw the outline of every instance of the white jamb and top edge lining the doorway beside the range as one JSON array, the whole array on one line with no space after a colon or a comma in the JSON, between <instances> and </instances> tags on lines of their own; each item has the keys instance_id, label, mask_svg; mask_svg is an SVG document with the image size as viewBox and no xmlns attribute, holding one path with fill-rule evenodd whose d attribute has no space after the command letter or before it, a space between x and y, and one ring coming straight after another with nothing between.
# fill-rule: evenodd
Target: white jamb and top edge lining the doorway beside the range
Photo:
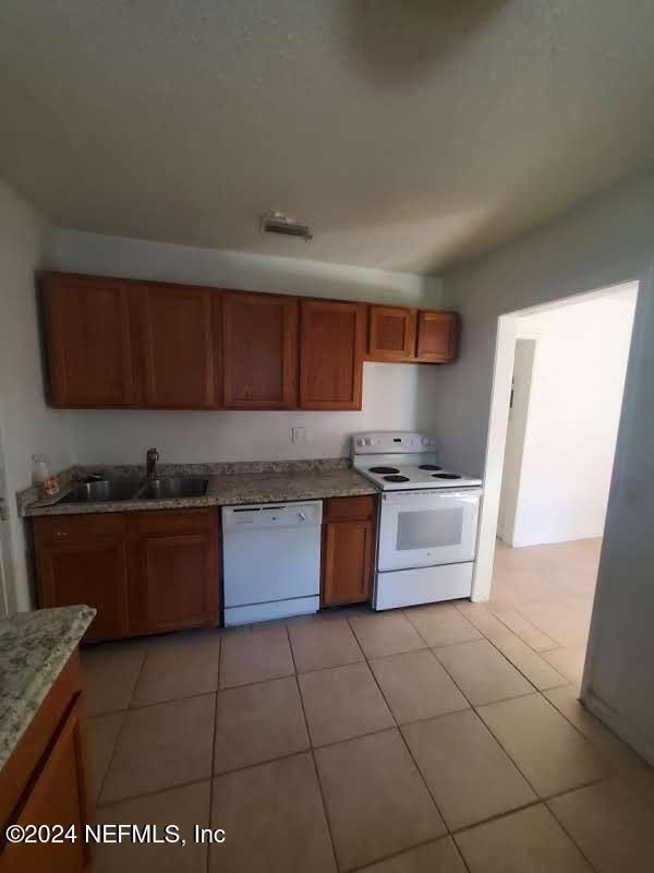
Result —
<instances>
[{"instance_id":1,"label":"white jamb and top edge lining the doorway beside the range","mask_svg":"<svg viewBox=\"0 0 654 873\"><path fill-rule=\"evenodd\" d=\"M472 600L487 600L491 594L519 319L548 312L565 306L579 304L586 300L605 298L621 291L635 295L638 294L638 282L628 282L500 315L496 337L484 467L484 497L480 515L477 560L473 578Z\"/></svg>"}]
</instances>

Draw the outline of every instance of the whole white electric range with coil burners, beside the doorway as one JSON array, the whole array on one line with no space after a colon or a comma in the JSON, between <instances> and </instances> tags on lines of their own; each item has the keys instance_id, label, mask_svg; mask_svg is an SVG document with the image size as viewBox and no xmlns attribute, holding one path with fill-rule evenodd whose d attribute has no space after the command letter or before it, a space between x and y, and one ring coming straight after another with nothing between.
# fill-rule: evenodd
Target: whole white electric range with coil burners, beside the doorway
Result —
<instances>
[{"instance_id":1,"label":"whole white electric range with coil burners, beside the doorway","mask_svg":"<svg viewBox=\"0 0 654 873\"><path fill-rule=\"evenodd\" d=\"M373 608L470 597L482 480L445 468L434 436L352 436L352 466L382 489Z\"/></svg>"}]
</instances>

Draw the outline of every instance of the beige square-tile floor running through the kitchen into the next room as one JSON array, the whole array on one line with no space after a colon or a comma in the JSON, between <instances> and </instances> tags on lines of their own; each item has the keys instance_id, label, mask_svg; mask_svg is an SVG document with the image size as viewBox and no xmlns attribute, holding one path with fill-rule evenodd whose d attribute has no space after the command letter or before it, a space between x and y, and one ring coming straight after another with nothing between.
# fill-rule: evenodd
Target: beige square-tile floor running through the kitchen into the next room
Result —
<instances>
[{"instance_id":1,"label":"beige square-tile floor running through the kitchen into the next room","mask_svg":"<svg viewBox=\"0 0 654 873\"><path fill-rule=\"evenodd\" d=\"M499 543L485 605L85 649L98 821L186 839L93 873L654 870L653 770L577 699L597 560Z\"/></svg>"}]
</instances>

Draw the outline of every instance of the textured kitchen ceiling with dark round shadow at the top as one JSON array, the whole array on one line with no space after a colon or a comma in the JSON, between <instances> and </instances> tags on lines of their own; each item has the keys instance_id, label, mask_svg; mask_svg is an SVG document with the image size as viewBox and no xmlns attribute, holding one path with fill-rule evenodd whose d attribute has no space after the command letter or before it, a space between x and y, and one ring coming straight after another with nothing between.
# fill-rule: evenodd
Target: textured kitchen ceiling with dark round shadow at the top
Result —
<instances>
[{"instance_id":1,"label":"textured kitchen ceiling with dark round shadow at the top","mask_svg":"<svg viewBox=\"0 0 654 873\"><path fill-rule=\"evenodd\" d=\"M653 57L652 0L2 0L0 176L61 226L437 272L649 163Z\"/></svg>"}]
</instances>

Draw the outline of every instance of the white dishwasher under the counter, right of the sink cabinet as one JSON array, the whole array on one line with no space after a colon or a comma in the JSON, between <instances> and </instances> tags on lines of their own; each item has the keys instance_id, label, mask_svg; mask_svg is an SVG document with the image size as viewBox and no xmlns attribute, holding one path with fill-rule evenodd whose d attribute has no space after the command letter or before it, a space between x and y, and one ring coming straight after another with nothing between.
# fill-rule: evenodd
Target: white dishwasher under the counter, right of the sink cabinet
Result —
<instances>
[{"instance_id":1,"label":"white dishwasher under the counter, right of the sink cabinet","mask_svg":"<svg viewBox=\"0 0 654 873\"><path fill-rule=\"evenodd\" d=\"M222 507L225 624L317 612L323 503Z\"/></svg>"}]
</instances>

